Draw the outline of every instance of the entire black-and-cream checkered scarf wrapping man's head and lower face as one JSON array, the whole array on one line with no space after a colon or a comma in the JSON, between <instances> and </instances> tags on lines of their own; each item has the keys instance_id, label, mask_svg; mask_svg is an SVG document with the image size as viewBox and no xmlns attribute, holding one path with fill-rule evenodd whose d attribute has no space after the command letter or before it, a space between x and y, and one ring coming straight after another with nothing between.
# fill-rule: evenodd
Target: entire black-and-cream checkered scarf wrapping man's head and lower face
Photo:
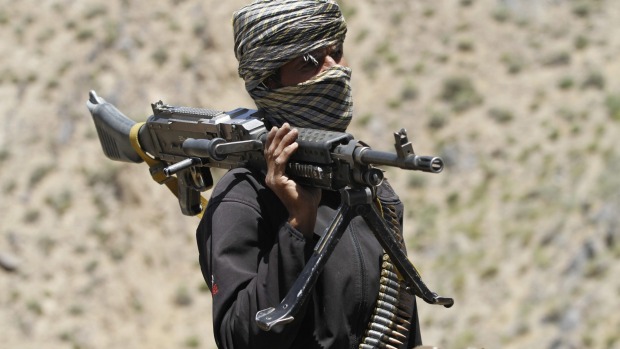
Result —
<instances>
[{"instance_id":1,"label":"entire black-and-cream checkered scarf wrapping man's head and lower face","mask_svg":"<svg viewBox=\"0 0 620 349\"><path fill-rule=\"evenodd\" d=\"M261 84L283 64L344 41L347 27L332 0L257 0L233 15L239 76L276 123L344 131L352 116L351 70L332 67L295 86Z\"/></svg>"}]
</instances>

